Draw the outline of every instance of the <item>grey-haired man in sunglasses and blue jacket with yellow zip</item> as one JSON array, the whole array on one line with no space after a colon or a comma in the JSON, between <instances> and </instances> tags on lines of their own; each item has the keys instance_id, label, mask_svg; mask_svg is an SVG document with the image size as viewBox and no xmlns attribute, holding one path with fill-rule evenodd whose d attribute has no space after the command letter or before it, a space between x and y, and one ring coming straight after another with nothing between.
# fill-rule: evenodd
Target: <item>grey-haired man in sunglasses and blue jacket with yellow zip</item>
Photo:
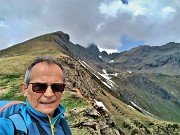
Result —
<instances>
[{"instance_id":1,"label":"grey-haired man in sunglasses and blue jacket with yellow zip","mask_svg":"<svg viewBox=\"0 0 180 135\"><path fill-rule=\"evenodd\" d=\"M27 126L28 135L71 135L68 124L62 123L62 120L65 121L65 108L60 105L60 99L64 83L62 66L52 56L37 57L28 66L22 84L27 100L19 112ZM10 119L0 118L0 134L14 134Z\"/></svg>"}]
</instances>

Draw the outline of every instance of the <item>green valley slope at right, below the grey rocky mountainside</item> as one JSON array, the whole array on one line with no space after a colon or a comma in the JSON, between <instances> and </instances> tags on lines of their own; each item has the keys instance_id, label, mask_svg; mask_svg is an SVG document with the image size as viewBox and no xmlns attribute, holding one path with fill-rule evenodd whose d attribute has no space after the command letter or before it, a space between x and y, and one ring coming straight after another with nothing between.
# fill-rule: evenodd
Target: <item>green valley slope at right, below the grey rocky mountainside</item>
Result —
<instances>
[{"instance_id":1,"label":"green valley slope at right, below the grey rocky mountainside","mask_svg":"<svg viewBox=\"0 0 180 135\"><path fill-rule=\"evenodd\" d=\"M144 80L142 79L143 76L145 77ZM126 99L133 101L144 110L158 116L159 119L180 122L180 109L173 103L173 100L179 101L180 97L178 77L161 74L139 75L127 73L114 78L114 82L119 85L120 91L129 94L129 98L127 96ZM155 91L155 89L160 88L168 91L174 97L170 100L161 98L160 94Z\"/></svg>"}]
</instances>

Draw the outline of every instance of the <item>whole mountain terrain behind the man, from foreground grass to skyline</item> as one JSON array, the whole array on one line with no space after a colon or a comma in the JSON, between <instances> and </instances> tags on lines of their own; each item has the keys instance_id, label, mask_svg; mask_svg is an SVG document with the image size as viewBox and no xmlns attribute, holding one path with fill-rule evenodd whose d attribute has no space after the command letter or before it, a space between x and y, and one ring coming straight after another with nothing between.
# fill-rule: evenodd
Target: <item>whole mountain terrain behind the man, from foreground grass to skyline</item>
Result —
<instances>
[{"instance_id":1,"label":"whole mountain terrain behind the man, from foreground grass to skyline","mask_svg":"<svg viewBox=\"0 0 180 135\"><path fill-rule=\"evenodd\" d=\"M180 134L179 47L172 42L107 54L93 43L73 44L63 32L45 34L0 51L0 99L24 100L27 64L51 54L64 67L62 104L75 135Z\"/></svg>"}]
</instances>

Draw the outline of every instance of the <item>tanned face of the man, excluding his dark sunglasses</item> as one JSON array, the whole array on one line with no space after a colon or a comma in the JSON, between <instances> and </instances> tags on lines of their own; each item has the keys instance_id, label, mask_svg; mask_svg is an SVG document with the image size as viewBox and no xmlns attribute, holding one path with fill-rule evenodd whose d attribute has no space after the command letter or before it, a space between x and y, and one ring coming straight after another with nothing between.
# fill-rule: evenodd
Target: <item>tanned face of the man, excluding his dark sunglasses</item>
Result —
<instances>
[{"instance_id":1,"label":"tanned face of the man, excluding his dark sunglasses","mask_svg":"<svg viewBox=\"0 0 180 135\"><path fill-rule=\"evenodd\" d=\"M30 83L64 83L64 74L56 64L41 62L32 68ZM28 87L23 84L23 92L34 109L51 116L59 106L62 96L61 92L53 92L51 86L48 86L44 93L33 92L32 84Z\"/></svg>"}]
</instances>

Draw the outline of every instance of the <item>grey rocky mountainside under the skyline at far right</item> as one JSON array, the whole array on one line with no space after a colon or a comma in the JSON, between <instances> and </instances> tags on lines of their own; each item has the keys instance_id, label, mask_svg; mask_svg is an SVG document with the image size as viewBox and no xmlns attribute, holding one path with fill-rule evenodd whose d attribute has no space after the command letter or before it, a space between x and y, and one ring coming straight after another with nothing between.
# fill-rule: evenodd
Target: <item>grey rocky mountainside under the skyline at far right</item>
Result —
<instances>
[{"instance_id":1,"label":"grey rocky mountainside under the skyline at far right","mask_svg":"<svg viewBox=\"0 0 180 135\"><path fill-rule=\"evenodd\" d=\"M113 61L112 66L122 71L180 75L180 44L139 46L117 54Z\"/></svg>"}]
</instances>

